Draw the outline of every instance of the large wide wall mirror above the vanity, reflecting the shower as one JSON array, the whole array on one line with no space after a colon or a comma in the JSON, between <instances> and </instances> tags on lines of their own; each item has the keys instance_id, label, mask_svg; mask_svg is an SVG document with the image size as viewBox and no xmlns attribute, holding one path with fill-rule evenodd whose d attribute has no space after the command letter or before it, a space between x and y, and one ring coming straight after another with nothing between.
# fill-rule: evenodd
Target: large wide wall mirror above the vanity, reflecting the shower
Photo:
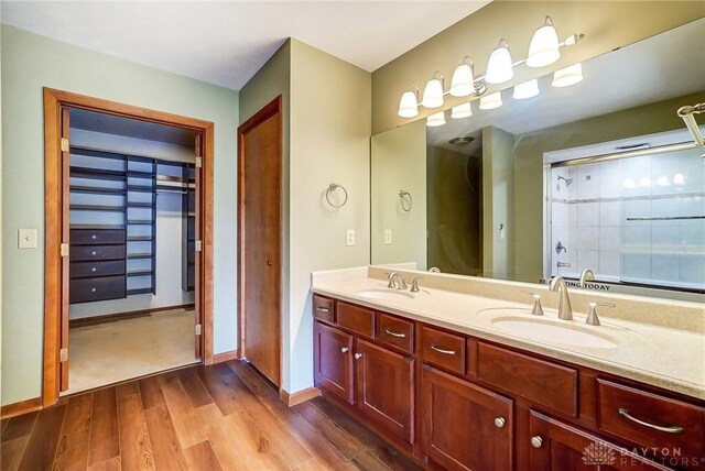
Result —
<instances>
[{"instance_id":1,"label":"large wide wall mirror above the vanity, reflecting the shower","mask_svg":"<svg viewBox=\"0 0 705 471\"><path fill-rule=\"evenodd\" d=\"M372 136L371 262L530 283L589 269L594 289L702 300L705 149L676 111L705 102L704 46L699 19L572 86L541 76L531 98Z\"/></svg>"}]
</instances>

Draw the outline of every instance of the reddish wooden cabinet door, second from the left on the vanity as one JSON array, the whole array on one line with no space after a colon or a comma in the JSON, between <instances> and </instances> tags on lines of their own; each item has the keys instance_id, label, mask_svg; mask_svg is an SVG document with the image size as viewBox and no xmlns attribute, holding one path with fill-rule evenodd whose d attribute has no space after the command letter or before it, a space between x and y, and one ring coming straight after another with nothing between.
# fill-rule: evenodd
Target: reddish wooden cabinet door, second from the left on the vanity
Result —
<instances>
[{"instance_id":1,"label":"reddish wooden cabinet door, second from the left on the vanity","mask_svg":"<svg viewBox=\"0 0 705 471\"><path fill-rule=\"evenodd\" d=\"M413 443L414 360L358 339L355 372L358 408Z\"/></svg>"}]
</instances>

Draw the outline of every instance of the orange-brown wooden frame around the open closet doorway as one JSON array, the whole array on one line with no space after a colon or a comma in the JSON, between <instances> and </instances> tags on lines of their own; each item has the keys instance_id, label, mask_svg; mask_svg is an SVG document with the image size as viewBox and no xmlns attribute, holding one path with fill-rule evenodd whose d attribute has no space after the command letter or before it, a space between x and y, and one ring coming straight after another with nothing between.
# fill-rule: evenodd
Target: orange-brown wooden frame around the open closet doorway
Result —
<instances>
[{"instance_id":1,"label":"orange-brown wooden frame around the open closet doorway","mask_svg":"<svg viewBox=\"0 0 705 471\"><path fill-rule=\"evenodd\" d=\"M214 124L194 118L44 88L44 365L42 406L58 399L62 303L61 109L79 108L140 121L188 129L202 135L200 273L198 299L202 361L213 363L213 166ZM198 253L196 254L198 256Z\"/></svg>"}]
</instances>

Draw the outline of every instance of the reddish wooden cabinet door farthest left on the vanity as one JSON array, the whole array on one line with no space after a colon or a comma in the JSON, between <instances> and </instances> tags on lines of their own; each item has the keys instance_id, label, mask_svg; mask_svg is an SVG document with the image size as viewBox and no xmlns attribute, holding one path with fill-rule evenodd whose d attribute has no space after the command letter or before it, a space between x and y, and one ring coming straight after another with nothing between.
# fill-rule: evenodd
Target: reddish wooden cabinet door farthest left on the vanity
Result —
<instances>
[{"instance_id":1,"label":"reddish wooden cabinet door farthest left on the vanity","mask_svg":"<svg viewBox=\"0 0 705 471\"><path fill-rule=\"evenodd\" d=\"M314 381L350 404L352 388L352 336L314 322Z\"/></svg>"}]
</instances>

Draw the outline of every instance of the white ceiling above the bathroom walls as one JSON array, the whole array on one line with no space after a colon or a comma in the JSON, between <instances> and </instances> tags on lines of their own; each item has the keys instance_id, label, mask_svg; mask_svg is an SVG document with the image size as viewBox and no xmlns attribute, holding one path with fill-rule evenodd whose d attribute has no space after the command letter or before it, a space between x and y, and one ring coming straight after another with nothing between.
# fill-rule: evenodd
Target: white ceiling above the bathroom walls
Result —
<instances>
[{"instance_id":1,"label":"white ceiling above the bathroom walls","mask_svg":"<svg viewBox=\"0 0 705 471\"><path fill-rule=\"evenodd\" d=\"M2 1L2 23L239 90L294 37L372 72L490 0Z\"/></svg>"}]
</instances>

